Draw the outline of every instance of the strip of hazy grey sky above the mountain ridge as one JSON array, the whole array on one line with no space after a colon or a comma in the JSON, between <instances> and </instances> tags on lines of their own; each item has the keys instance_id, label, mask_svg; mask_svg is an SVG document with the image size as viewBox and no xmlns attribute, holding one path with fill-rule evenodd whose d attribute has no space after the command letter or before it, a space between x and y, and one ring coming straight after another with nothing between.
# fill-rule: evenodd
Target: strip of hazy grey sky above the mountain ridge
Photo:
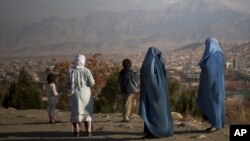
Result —
<instances>
[{"instance_id":1,"label":"strip of hazy grey sky above the mountain ridge","mask_svg":"<svg viewBox=\"0 0 250 141\"><path fill-rule=\"evenodd\" d=\"M39 21L46 17L83 17L96 10L162 9L183 0L0 0L0 20ZM250 0L205 0L250 13Z\"/></svg>"}]
</instances>

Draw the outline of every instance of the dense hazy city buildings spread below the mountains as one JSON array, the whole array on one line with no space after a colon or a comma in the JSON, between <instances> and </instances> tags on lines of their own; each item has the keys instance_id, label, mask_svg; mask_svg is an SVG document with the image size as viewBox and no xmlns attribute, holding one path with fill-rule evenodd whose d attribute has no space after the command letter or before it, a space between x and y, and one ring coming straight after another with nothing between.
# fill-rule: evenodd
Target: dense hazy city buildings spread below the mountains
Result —
<instances>
[{"instance_id":1,"label":"dense hazy city buildings spread below the mountains","mask_svg":"<svg viewBox=\"0 0 250 141\"><path fill-rule=\"evenodd\" d=\"M227 95L235 98L244 98L249 94L250 86L250 68L246 61L248 59L249 43L229 43L222 42L223 51L225 55L225 70L226 81L225 87ZM243 48L242 44L246 47ZM245 49L245 50L244 50ZM203 44L196 43L183 47L173 52L162 51L168 77L180 81L184 89L196 88L198 86L200 67L199 59L203 54ZM101 60L106 59L110 65L121 65L124 58L131 58L133 62L133 69L139 74L140 67L143 62L145 53L124 55L102 54ZM23 57L13 59L2 59L0 63L0 84L1 86L13 82L19 73L19 70L24 67L28 70L32 79L36 82L45 81L45 71L48 67L53 67L57 62L72 61L74 56L53 56L53 57ZM230 76L236 75L236 76ZM239 77L240 76L240 77Z\"/></svg>"}]
</instances>

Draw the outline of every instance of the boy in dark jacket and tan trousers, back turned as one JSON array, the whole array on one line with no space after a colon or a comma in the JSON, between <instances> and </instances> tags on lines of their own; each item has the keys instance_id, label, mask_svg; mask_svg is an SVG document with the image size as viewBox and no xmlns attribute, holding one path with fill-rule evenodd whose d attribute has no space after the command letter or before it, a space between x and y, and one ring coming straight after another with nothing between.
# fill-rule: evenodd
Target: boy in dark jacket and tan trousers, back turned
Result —
<instances>
[{"instance_id":1,"label":"boy in dark jacket and tan trousers, back turned","mask_svg":"<svg viewBox=\"0 0 250 141\"><path fill-rule=\"evenodd\" d=\"M119 73L119 84L123 102L123 121L128 122L130 120L132 103L138 84L136 81L136 73L130 69L132 66L131 60L124 59L122 66L123 69Z\"/></svg>"}]
</instances>

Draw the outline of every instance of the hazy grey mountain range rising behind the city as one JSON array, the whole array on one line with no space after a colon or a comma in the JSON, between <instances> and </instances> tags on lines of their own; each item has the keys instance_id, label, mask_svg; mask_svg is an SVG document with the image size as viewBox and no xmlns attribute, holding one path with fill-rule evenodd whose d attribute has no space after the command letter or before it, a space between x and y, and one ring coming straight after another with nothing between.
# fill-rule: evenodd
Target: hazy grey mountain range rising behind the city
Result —
<instances>
[{"instance_id":1,"label":"hazy grey mountain range rising behind the city","mask_svg":"<svg viewBox=\"0 0 250 141\"><path fill-rule=\"evenodd\" d=\"M173 50L208 37L249 41L250 14L203 0L160 10L98 11L82 18L49 17L36 23L0 21L0 55Z\"/></svg>"}]
</instances>

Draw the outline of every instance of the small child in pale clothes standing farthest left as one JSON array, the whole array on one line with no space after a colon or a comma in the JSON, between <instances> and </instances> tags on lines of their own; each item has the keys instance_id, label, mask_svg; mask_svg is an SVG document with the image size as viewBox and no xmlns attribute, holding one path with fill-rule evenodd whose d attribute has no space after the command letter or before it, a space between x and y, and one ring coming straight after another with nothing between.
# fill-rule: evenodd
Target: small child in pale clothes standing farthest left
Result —
<instances>
[{"instance_id":1,"label":"small child in pale clothes standing farthest left","mask_svg":"<svg viewBox=\"0 0 250 141\"><path fill-rule=\"evenodd\" d=\"M48 116L49 116L49 123L56 123L55 121L55 108L58 104L58 92L56 90L55 85L55 75L49 73L47 75L47 82L46 85L46 94L47 94L47 106L48 106Z\"/></svg>"}]
</instances>

